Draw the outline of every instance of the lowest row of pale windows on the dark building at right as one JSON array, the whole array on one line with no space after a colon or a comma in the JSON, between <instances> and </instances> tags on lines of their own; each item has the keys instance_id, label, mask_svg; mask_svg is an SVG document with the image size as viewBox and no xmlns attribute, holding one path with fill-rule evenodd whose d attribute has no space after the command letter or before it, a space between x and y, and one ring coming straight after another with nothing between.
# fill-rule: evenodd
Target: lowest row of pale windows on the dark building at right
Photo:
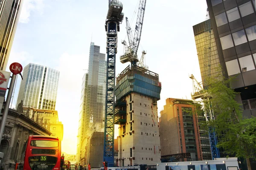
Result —
<instances>
[{"instance_id":1,"label":"lowest row of pale windows on the dark building at right","mask_svg":"<svg viewBox=\"0 0 256 170\"><path fill-rule=\"evenodd\" d=\"M253 54L254 62L256 62L256 54ZM255 66L253 63L253 58L251 55L241 57L239 59L233 59L231 61L226 62L227 73L229 76L234 74L239 74L242 72L254 70ZM241 71L239 68L239 64L241 67Z\"/></svg>"}]
</instances>

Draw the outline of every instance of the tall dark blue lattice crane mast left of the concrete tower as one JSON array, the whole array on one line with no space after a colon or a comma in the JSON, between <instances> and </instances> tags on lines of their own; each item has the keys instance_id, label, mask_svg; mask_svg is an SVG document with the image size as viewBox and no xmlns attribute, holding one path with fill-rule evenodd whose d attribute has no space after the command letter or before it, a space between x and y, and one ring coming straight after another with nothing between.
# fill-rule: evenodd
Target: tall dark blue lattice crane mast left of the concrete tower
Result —
<instances>
[{"instance_id":1,"label":"tall dark blue lattice crane mast left of the concrete tower","mask_svg":"<svg viewBox=\"0 0 256 170\"><path fill-rule=\"evenodd\" d=\"M105 23L107 32L107 72L105 101L105 130L103 161L107 166L114 165L114 99L115 99L115 64L117 53L117 32L120 30L124 14L123 5L118 0L108 0L108 14Z\"/></svg>"}]
</instances>

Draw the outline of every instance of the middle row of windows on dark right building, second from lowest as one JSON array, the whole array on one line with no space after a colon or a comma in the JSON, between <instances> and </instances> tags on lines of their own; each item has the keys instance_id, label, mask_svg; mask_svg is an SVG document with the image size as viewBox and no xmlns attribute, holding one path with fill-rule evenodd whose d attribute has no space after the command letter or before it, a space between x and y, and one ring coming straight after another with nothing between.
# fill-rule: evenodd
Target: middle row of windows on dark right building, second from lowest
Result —
<instances>
[{"instance_id":1,"label":"middle row of windows on dark right building, second from lowest","mask_svg":"<svg viewBox=\"0 0 256 170\"><path fill-rule=\"evenodd\" d=\"M255 25L249 28L245 28L245 31L244 29L242 29L240 31L232 33L232 37L235 45L240 45L247 42L245 32L247 34L248 41L256 40L256 25ZM222 50L225 50L227 48L231 48L234 46L232 37L231 37L231 34L228 34L220 38Z\"/></svg>"}]
</instances>

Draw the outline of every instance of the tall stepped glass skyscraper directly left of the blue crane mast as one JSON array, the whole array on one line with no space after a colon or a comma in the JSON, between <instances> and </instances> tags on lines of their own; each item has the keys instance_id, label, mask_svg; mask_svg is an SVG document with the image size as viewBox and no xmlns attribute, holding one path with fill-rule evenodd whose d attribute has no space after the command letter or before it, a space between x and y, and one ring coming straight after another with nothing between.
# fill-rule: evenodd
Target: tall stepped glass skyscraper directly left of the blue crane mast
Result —
<instances>
[{"instance_id":1,"label":"tall stepped glass skyscraper directly left of the blue crane mast","mask_svg":"<svg viewBox=\"0 0 256 170\"><path fill-rule=\"evenodd\" d=\"M101 135L96 135L94 132L102 132L102 134L104 132L106 67L107 62L105 60L105 54L101 54L100 47L94 45L94 42L91 42L88 72L84 74L81 88L80 119L77 139L76 161L83 166L87 166L90 161L89 150L91 147L88 145L90 140L98 140L99 143L104 142L104 138L102 138ZM97 148L93 148L93 150L99 148L103 150L103 147L100 145L96 147ZM98 153L96 157L99 159L95 160L93 166L102 165L103 153Z\"/></svg>"}]
</instances>

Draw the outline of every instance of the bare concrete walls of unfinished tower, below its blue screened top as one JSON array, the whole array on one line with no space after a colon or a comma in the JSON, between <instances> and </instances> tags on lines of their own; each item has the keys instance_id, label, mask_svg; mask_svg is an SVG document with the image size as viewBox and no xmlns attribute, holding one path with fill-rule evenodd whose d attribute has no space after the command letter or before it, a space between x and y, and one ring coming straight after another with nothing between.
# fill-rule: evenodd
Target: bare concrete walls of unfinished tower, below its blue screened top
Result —
<instances>
[{"instance_id":1,"label":"bare concrete walls of unfinished tower, below its blue screened top","mask_svg":"<svg viewBox=\"0 0 256 170\"><path fill-rule=\"evenodd\" d=\"M126 124L119 125L119 166L156 164L160 161L157 105L152 104L151 97L137 93L131 93L125 100Z\"/></svg>"}]
</instances>

